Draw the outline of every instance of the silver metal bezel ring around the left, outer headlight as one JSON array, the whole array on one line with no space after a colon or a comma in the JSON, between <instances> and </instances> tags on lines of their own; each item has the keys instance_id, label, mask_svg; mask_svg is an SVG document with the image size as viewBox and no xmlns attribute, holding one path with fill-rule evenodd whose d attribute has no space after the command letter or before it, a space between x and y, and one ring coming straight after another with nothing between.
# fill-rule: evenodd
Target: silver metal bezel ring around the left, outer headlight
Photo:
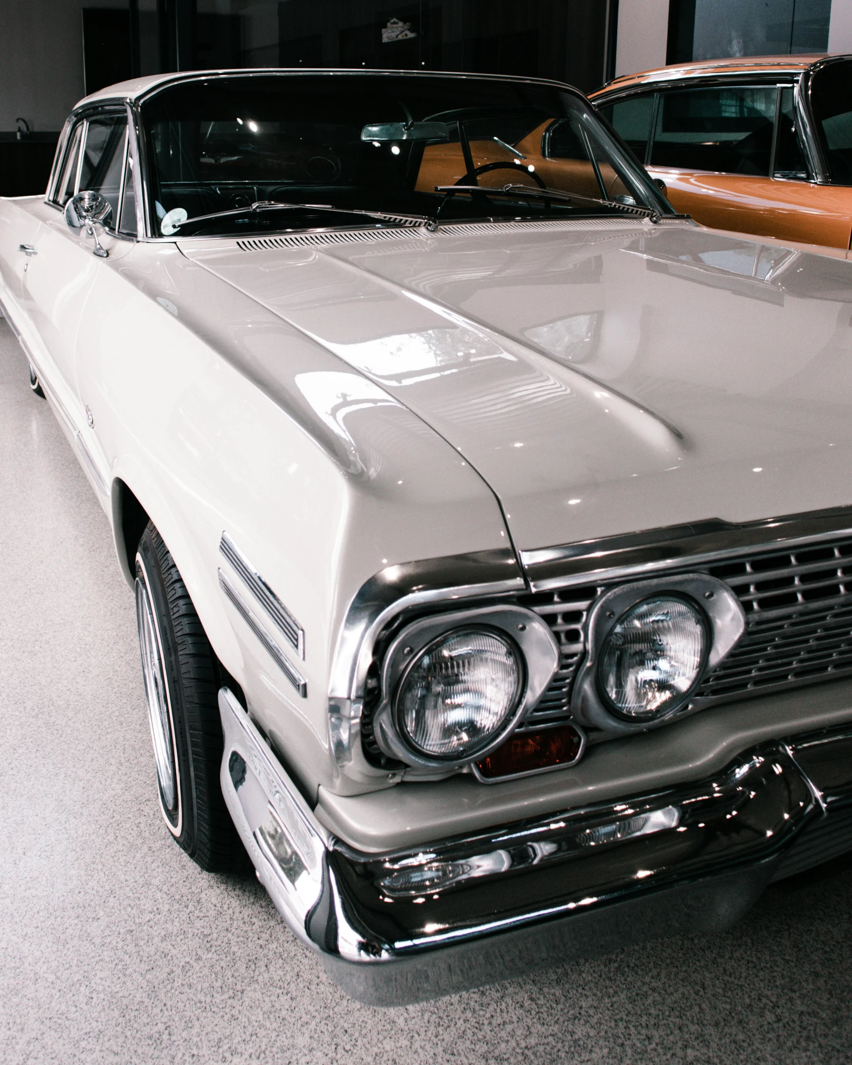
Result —
<instances>
[{"instance_id":1,"label":"silver metal bezel ring around the left, outer headlight","mask_svg":"<svg viewBox=\"0 0 852 1065\"><path fill-rule=\"evenodd\" d=\"M400 684L426 649L450 633L464 629L493 630L518 649L523 670L517 705L487 742L463 756L425 754L408 741L396 714ZM409 650L410 649L410 650ZM550 626L537 613L512 604L429 615L410 622L394 637L383 656L381 703L373 724L376 741L390 757L421 769L447 772L471 765L495 750L511 734L527 709L546 691L559 668L560 653Z\"/></svg>"}]
</instances>

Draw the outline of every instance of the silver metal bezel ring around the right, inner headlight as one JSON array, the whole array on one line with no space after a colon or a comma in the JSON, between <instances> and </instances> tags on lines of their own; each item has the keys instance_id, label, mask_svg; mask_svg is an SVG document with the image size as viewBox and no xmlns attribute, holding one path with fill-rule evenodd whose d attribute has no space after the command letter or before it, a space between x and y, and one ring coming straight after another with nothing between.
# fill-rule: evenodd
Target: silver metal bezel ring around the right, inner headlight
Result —
<instances>
[{"instance_id":1,"label":"silver metal bezel ring around the right, inner headlight","mask_svg":"<svg viewBox=\"0 0 852 1065\"><path fill-rule=\"evenodd\" d=\"M613 711L597 683L597 667L605 642L622 618L645 600L685 600L704 616L708 646L698 676L683 697L653 718L625 719ZM581 724L601 728L610 735L646 732L701 709L694 693L707 673L733 650L746 630L742 605L722 580L706 573L676 574L634 580L611 588L601 595L589 612L586 625L586 657L574 682L571 712Z\"/></svg>"}]
</instances>

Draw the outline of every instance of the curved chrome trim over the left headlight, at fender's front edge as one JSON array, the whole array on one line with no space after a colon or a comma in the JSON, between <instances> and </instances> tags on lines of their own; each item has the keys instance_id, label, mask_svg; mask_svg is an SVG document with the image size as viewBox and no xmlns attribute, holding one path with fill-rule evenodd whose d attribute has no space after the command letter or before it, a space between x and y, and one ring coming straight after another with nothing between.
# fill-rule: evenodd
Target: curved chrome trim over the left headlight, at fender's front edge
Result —
<instances>
[{"instance_id":1,"label":"curved chrome trim over the left headlight, at fender's front edge","mask_svg":"<svg viewBox=\"0 0 852 1065\"><path fill-rule=\"evenodd\" d=\"M363 697L376 636L403 610L430 603L449 607L459 600L523 591L526 584L509 547L380 570L361 586L346 611L331 663L329 699L348 702Z\"/></svg>"}]
</instances>

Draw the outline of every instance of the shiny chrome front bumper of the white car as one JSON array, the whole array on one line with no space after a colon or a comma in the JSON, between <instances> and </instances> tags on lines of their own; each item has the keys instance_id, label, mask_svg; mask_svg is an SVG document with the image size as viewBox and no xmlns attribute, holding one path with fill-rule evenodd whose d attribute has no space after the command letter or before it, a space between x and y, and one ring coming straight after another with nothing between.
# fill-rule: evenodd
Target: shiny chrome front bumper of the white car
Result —
<instances>
[{"instance_id":1,"label":"shiny chrome front bumper of the white car","mask_svg":"<svg viewBox=\"0 0 852 1065\"><path fill-rule=\"evenodd\" d=\"M752 748L699 783L367 854L316 820L227 688L219 710L223 792L258 878L373 1004L724 929L771 880L852 849L849 727Z\"/></svg>"}]
</instances>

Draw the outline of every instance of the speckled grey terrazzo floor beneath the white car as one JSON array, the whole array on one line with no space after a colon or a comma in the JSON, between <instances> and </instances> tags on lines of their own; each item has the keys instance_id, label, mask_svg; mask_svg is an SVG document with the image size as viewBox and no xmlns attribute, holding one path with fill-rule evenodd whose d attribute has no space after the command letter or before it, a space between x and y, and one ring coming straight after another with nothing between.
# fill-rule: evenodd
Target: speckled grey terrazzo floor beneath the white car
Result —
<instances>
[{"instance_id":1,"label":"speckled grey terrazzo floor beneath the white car","mask_svg":"<svg viewBox=\"0 0 852 1065\"><path fill-rule=\"evenodd\" d=\"M0 1062L848 1065L852 861L733 931L425 1005L347 999L154 799L106 520L0 321Z\"/></svg>"}]
</instances>

